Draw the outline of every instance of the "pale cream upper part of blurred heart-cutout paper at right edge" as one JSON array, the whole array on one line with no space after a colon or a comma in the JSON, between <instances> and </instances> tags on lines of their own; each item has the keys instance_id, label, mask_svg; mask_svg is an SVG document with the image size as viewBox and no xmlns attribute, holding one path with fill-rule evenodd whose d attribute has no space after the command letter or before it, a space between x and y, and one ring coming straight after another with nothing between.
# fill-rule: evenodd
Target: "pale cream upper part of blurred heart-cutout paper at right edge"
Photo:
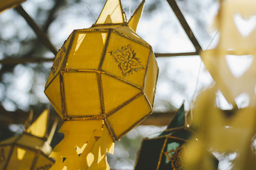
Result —
<instances>
[{"instance_id":1,"label":"pale cream upper part of blurred heart-cutout paper at right edge","mask_svg":"<svg viewBox=\"0 0 256 170\"><path fill-rule=\"evenodd\" d=\"M214 23L220 32L218 45L201 53L206 69L225 99L233 105L241 94L250 98L251 106L256 103L256 30L250 24L250 18L256 15L255 8L256 1L252 0L220 1ZM239 64L234 65L237 61Z\"/></svg>"}]
</instances>

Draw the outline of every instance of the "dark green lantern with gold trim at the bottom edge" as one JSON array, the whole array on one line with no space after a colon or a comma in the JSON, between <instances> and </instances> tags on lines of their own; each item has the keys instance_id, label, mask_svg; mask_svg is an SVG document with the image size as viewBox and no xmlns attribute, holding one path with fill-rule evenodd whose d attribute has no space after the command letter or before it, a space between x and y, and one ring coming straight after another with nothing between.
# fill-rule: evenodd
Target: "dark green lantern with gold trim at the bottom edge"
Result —
<instances>
[{"instance_id":1,"label":"dark green lantern with gold trim at the bottom edge","mask_svg":"<svg viewBox=\"0 0 256 170\"><path fill-rule=\"evenodd\" d=\"M183 169L186 154L184 148L189 138L195 141L185 120L182 104L164 132L156 138L143 139L134 169ZM207 152L206 149L205 151ZM217 169L218 160L211 153L207 153Z\"/></svg>"}]
</instances>

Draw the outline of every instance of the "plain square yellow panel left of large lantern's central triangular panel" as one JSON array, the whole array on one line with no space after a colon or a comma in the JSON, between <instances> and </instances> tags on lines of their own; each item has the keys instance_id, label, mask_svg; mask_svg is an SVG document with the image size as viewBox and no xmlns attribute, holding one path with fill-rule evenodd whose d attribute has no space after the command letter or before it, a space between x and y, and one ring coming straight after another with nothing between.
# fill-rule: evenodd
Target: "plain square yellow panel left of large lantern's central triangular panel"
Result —
<instances>
[{"instance_id":1,"label":"plain square yellow panel left of large lantern's central triangular panel","mask_svg":"<svg viewBox=\"0 0 256 170\"><path fill-rule=\"evenodd\" d=\"M63 81L67 115L84 116L102 113L96 73L66 72L63 74Z\"/></svg>"}]
</instances>

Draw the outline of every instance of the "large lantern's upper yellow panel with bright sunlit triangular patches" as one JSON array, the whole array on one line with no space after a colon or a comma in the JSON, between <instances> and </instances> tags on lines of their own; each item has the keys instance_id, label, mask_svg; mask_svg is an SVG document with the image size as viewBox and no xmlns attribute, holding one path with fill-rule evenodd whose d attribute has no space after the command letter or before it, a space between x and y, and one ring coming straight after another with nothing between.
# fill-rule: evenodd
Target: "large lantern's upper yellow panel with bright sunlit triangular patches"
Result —
<instances>
[{"instance_id":1,"label":"large lantern's upper yellow panel with bright sunlit triangular patches","mask_svg":"<svg viewBox=\"0 0 256 170\"><path fill-rule=\"evenodd\" d=\"M77 32L66 64L67 69L97 69L107 33Z\"/></svg>"}]
</instances>

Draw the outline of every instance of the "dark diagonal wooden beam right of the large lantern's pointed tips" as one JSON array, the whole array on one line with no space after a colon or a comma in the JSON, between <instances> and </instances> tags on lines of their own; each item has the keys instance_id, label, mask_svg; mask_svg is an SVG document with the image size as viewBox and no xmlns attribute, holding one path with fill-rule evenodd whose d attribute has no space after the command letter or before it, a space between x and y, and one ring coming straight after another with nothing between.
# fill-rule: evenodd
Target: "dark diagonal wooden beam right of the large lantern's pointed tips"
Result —
<instances>
[{"instance_id":1,"label":"dark diagonal wooden beam right of the large lantern's pointed tips","mask_svg":"<svg viewBox=\"0 0 256 170\"><path fill-rule=\"evenodd\" d=\"M193 31L191 30L191 28L188 25L188 22L186 21L186 19L184 18L182 12L180 11L179 6L177 5L175 0L166 0L173 12L175 13L176 17L178 18L180 25L183 27L184 31L186 32L188 38L190 39L191 43L195 46L195 50L196 52L200 52L202 50L202 47L200 46L200 44L198 43L197 39L195 38L195 35L193 34Z\"/></svg>"}]
</instances>

